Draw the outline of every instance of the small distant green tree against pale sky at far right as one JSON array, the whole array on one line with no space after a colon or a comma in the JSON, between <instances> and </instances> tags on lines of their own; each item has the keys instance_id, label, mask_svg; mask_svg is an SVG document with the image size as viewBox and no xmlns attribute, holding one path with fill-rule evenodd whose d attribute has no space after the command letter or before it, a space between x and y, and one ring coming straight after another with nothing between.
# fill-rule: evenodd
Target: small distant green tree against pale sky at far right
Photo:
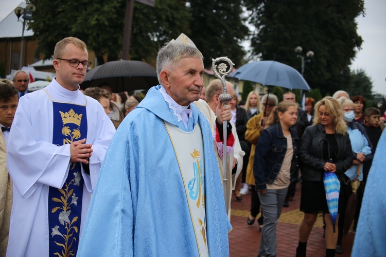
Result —
<instances>
[{"instance_id":1,"label":"small distant green tree against pale sky at far right","mask_svg":"<svg viewBox=\"0 0 386 257\"><path fill-rule=\"evenodd\" d=\"M373 100L373 81L363 69L351 72L351 84L347 88L350 97L360 95L366 100Z\"/></svg>"}]
</instances>

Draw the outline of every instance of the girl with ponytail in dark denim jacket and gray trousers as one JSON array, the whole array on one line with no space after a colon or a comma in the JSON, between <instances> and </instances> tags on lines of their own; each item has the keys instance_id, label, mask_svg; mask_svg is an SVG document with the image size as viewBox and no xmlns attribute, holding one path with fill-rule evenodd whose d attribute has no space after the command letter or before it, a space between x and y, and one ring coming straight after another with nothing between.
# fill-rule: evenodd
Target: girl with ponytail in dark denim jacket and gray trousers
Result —
<instances>
[{"instance_id":1,"label":"girl with ponytail in dark denim jacket and gray trousers","mask_svg":"<svg viewBox=\"0 0 386 257\"><path fill-rule=\"evenodd\" d=\"M288 186L297 178L297 132L291 128L297 120L297 106L280 102L272 110L256 145L253 174L264 224L259 256L276 256L276 225L282 213Z\"/></svg>"}]
</instances>

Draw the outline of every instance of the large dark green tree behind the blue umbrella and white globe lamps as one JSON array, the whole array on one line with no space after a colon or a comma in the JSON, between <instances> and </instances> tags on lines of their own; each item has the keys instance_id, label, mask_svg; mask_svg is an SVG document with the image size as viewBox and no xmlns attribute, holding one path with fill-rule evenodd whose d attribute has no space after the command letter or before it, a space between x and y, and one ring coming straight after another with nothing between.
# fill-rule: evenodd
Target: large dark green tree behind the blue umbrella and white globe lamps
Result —
<instances>
[{"instance_id":1,"label":"large dark green tree behind the blue umbrella and white globe lamps","mask_svg":"<svg viewBox=\"0 0 386 257\"><path fill-rule=\"evenodd\" d=\"M304 78L322 95L347 89L349 65L362 44L355 18L364 14L363 0L244 0L249 22L256 27L252 53L262 60L276 60L300 70L294 49L302 46L315 55L306 63ZM303 54L304 54L303 53Z\"/></svg>"}]
</instances>

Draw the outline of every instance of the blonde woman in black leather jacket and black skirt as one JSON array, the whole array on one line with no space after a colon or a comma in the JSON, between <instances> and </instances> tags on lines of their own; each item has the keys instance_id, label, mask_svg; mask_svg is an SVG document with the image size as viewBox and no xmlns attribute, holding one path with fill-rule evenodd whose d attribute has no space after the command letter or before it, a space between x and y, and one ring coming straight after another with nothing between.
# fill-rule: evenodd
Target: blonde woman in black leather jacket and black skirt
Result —
<instances>
[{"instance_id":1,"label":"blonde woman in black leather jacket and black skirt","mask_svg":"<svg viewBox=\"0 0 386 257\"><path fill-rule=\"evenodd\" d=\"M299 150L303 162L300 210L304 212L304 218L299 229L296 256L306 256L308 237L319 213L323 213L326 223L326 256L335 256L338 231L334 233L323 175L324 172L335 172L339 176L353 164L351 142L343 117L338 101L325 97L315 105L313 125L304 131ZM344 199L340 194L336 227L343 205Z\"/></svg>"}]
</instances>

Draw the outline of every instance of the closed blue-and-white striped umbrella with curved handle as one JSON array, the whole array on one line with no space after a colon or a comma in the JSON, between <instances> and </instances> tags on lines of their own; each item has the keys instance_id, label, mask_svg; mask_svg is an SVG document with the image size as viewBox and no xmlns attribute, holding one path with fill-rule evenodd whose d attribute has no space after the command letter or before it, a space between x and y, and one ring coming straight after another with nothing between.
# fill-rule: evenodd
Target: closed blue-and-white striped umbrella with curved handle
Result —
<instances>
[{"instance_id":1,"label":"closed blue-and-white striped umbrella with curved handle","mask_svg":"<svg viewBox=\"0 0 386 257\"><path fill-rule=\"evenodd\" d=\"M322 141L326 141L327 143L327 153L328 153L328 162L332 163L332 159L330 158L330 145L328 140L323 138L319 141L319 145ZM334 226L335 233L335 223L337 222L338 217L338 203L339 203L339 193L340 193L340 181L335 172L325 171L323 174L323 183L324 190L326 191L326 199L328 211L330 213L331 222Z\"/></svg>"}]
</instances>

